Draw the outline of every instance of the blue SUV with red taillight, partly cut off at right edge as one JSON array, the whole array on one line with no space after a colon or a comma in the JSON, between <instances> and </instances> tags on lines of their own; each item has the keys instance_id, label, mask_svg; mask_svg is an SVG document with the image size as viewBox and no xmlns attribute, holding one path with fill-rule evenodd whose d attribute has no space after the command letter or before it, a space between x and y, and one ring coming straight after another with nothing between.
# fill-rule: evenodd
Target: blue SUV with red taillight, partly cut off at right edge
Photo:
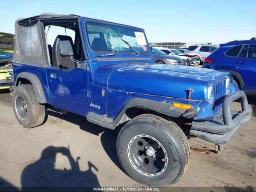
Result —
<instances>
[{"instance_id":1,"label":"blue SUV with red taillight, partly cut off at right edge","mask_svg":"<svg viewBox=\"0 0 256 192\"><path fill-rule=\"evenodd\" d=\"M220 44L205 58L204 68L230 72L241 90L256 95L256 39Z\"/></svg>"}]
</instances>

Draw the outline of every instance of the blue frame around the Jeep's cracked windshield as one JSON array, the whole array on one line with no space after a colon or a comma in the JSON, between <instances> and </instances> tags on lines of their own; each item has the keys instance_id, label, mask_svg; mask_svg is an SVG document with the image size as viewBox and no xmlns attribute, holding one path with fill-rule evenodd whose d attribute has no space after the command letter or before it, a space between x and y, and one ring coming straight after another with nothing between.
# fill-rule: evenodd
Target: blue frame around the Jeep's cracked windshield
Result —
<instances>
[{"instance_id":1,"label":"blue frame around the Jeep's cracked windshield","mask_svg":"<svg viewBox=\"0 0 256 192\"><path fill-rule=\"evenodd\" d=\"M107 54L111 54L111 53L113 53L113 54L134 54L134 55L136 55L137 56L137 54L135 53L135 52L133 52L132 50L130 50L129 52L112 52L112 51L98 51L98 50L94 50L92 47L91 47L91 45L90 45L90 41L89 41L89 36L88 36L88 31L87 31L87 27L86 27L86 24L87 23L90 23L90 22L92 22L92 23L98 23L98 24L106 24L106 25L113 25L113 26L117 26L117 27L123 27L123 28L130 28L130 29L132 29L132 30L134 30L134 29L137 29L138 31L140 31L140 32L143 32L143 34L144 34L144 37L145 37L145 39L146 39L146 46L147 46L147 51L145 51L145 52L139 52L140 53L140 55L143 55L143 54L150 54L150 46L149 46L149 44L148 44L148 39L147 39L147 37L146 37L146 34L145 34L145 32L144 32L144 29L142 29L142 28L137 28L137 27L132 27L132 26L127 26L127 25L123 25L123 24L117 24L117 23L112 23L112 22L106 22L106 21L103 21L103 22L100 22L100 21L97 21L97 20L93 20L93 19L86 19L84 22L83 22L83 27L84 27L84 32L85 32L85 36L86 36L86 44L88 44L88 47L90 48L90 51L92 51L92 52L94 52L94 53L107 53Z\"/></svg>"}]
</instances>

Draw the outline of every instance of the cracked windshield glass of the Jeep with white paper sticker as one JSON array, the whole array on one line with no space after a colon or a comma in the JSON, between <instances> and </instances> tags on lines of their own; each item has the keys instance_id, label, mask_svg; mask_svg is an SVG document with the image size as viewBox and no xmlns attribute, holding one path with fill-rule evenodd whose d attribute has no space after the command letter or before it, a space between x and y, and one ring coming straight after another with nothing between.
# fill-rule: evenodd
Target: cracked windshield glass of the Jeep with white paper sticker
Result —
<instances>
[{"instance_id":1,"label":"cracked windshield glass of the Jeep with white paper sticker","mask_svg":"<svg viewBox=\"0 0 256 192\"><path fill-rule=\"evenodd\" d=\"M86 23L90 47L103 52L148 53L142 30L96 22Z\"/></svg>"}]
</instances>

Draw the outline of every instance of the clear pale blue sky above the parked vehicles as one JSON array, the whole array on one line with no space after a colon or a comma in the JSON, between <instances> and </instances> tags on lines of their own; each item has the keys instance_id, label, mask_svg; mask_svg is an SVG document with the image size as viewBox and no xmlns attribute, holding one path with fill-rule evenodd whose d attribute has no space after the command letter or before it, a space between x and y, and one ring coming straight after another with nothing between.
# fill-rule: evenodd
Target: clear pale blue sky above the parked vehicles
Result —
<instances>
[{"instance_id":1,"label":"clear pale blue sky above the parked vehicles","mask_svg":"<svg viewBox=\"0 0 256 192\"><path fill-rule=\"evenodd\" d=\"M0 0L0 32L44 12L144 28L149 42L224 43L256 37L256 0ZM51 29L50 29L51 30Z\"/></svg>"}]
</instances>

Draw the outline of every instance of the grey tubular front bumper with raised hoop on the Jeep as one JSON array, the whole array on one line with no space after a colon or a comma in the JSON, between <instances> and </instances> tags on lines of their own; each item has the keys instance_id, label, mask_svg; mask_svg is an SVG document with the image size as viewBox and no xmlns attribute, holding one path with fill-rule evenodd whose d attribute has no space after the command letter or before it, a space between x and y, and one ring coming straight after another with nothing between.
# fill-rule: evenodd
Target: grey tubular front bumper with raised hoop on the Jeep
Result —
<instances>
[{"instance_id":1,"label":"grey tubular front bumper with raised hoop on the Jeep","mask_svg":"<svg viewBox=\"0 0 256 192\"><path fill-rule=\"evenodd\" d=\"M231 103L240 99L242 112L231 110ZM192 122L190 134L215 144L226 144L240 124L251 118L252 108L243 91L235 92L224 99L222 112L208 122Z\"/></svg>"}]
</instances>

